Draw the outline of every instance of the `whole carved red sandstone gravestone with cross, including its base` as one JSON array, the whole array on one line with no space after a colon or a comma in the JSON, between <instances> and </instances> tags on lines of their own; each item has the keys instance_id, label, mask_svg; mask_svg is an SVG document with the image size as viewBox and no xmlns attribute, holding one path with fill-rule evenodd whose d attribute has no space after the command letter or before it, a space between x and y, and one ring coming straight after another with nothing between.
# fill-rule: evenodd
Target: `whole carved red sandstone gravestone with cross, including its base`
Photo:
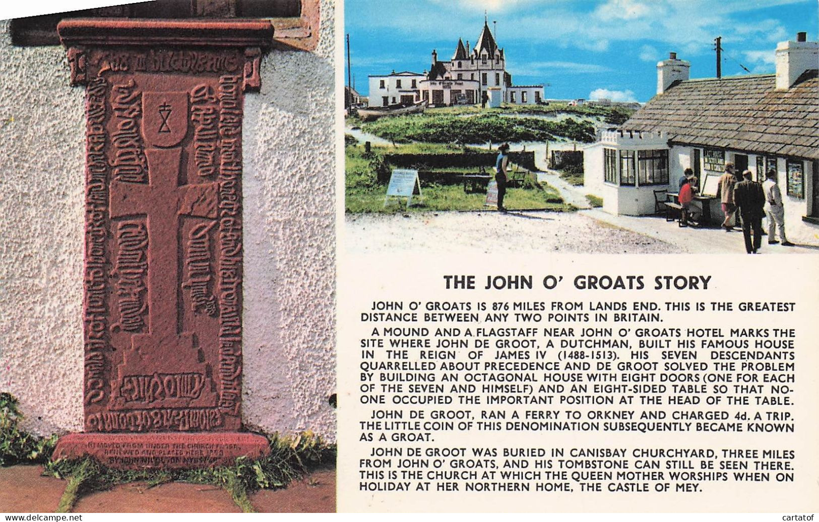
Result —
<instances>
[{"instance_id":1,"label":"whole carved red sandstone gravestone with cross, including its base","mask_svg":"<svg viewBox=\"0 0 819 522\"><path fill-rule=\"evenodd\" d=\"M242 105L257 20L65 20L86 87L84 430L55 457L227 464L242 396ZM160 432L164 432L161 433Z\"/></svg>"}]
</instances>

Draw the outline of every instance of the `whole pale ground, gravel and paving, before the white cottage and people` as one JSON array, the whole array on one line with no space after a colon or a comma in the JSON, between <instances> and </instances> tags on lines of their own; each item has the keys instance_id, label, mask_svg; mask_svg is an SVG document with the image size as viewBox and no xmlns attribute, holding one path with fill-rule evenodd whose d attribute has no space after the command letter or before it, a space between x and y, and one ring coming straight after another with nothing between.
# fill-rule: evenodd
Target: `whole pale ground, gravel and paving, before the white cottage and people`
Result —
<instances>
[{"instance_id":1,"label":"whole pale ground, gravel and paving, before the white cottage and people","mask_svg":"<svg viewBox=\"0 0 819 522\"><path fill-rule=\"evenodd\" d=\"M409 212L347 214L346 249L356 253L744 254L742 232L678 227L663 217L573 213ZM812 246L767 245L760 254L819 254Z\"/></svg>"}]
</instances>

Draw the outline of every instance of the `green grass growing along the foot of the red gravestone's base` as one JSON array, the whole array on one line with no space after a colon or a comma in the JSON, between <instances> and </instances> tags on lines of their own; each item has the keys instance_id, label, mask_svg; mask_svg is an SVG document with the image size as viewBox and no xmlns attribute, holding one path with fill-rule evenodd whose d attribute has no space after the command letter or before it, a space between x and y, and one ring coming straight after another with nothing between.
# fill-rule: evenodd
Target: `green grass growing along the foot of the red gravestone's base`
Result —
<instances>
[{"instance_id":1,"label":"green grass growing along the foot of the red gravestone's base","mask_svg":"<svg viewBox=\"0 0 819 522\"><path fill-rule=\"evenodd\" d=\"M233 466L193 470L118 470L100 465L92 459L49 461L45 474L58 479L69 479L61 506L70 511L76 499L94 491L103 491L119 484L146 482L154 487L166 482L211 484L224 488L242 511L252 512L247 494L258 489L284 488L292 480L324 466L334 466L335 445L324 443L310 432L296 437L268 437L270 453L251 461L238 458Z\"/></svg>"}]
</instances>

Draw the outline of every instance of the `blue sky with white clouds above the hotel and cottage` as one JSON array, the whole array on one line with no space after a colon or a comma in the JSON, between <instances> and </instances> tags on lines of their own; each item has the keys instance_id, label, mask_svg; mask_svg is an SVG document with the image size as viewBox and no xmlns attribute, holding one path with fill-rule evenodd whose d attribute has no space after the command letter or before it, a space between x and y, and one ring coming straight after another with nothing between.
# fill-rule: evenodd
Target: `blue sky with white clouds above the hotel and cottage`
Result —
<instances>
[{"instance_id":1,"label":"blue sky with white clouds above the hotel and cottage","mask_svg":"<svg viewBox=\"0 0 819 522\"><path fill-rule=\"evenodd\" d=\"M515 84L549 83L547 98L648 101L656 65L676 52L691 78L772 73L776 43L799 31L816 41L817 0L346 0L356 90L369 74L421 73L449 60L458 38L474 45L488 12ZM346 49L345 49L346 60ZM346 61L345 61L346 67ZM346 83L346 70L344 71Z\"/></svg>"}]
</instances>

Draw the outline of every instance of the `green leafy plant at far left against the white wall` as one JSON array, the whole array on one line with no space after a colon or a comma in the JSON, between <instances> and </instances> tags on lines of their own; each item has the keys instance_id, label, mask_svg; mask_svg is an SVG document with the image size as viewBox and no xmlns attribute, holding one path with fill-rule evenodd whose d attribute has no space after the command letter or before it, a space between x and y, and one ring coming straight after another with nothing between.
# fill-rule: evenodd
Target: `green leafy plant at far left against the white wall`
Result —
<instances>
[{"instance_id":1,"label":"green leafy plant at far left against the white wall","mask_svg":"<svg viewBox=\"0 0 819 522\"><path fill-rule=\"evenodd\" d=\"M54 451L56 435L39 437L20 430L22 420L17 399L7 392L0 393L0 466L45 462Z\"/></svg>"}]
</instances>

